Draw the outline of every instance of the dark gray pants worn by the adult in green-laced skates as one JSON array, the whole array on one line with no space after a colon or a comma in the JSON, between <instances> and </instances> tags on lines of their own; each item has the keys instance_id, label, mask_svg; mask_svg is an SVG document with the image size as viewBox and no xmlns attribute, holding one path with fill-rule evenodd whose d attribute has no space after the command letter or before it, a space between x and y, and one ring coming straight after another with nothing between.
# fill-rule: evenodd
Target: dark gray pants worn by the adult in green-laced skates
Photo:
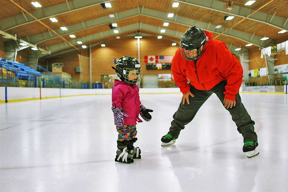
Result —
<instances>
[{"instance_id":1,"label":"dark gray pants worn by the adult in green-laced skates","mask_svg":"<svg viewBox=\"0 0 288 192\"><path fill-rule=\"evenodd\" d=\"M223 104L223 92L226 91L226 84L227 81L222 81L209 91L198 90L192 85L190 85L190 91L195 96L189 96L190 104L187 104L187 102L185 102L185 104L183 105L181 102L178 110L173 115L174 120L171 122L170 131L168 133L173 135L175 138L178 138L180 131L184 129L185 125L187 125L193 120L199 108L213 93L217 95L217 97ZM232 107L231 109L225 109L227 109L231 114L232 120L236 123L238 132L244 137L244 142L257 141L257 134L255 133L253 126L255 122L252 121L250 115L242 104L239 92L235 96L235 101L235 107Z\"/></svg>"}]
</instances>

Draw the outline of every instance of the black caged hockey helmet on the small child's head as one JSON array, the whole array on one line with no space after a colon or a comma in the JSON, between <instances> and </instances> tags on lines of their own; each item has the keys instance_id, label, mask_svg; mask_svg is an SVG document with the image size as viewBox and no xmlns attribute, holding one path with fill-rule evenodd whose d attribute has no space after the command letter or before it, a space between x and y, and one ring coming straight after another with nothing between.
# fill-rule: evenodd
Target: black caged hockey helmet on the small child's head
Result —
<instances>
[{"instance_id":1,"label":"black caged hockey helmet on the small child's head","mask_svg":"<svg viewBox=\"0 0 288 192\"><path fill-rule=\"evenodd\" d=\"M141 80L142 68L137 58L123 56L117 61L116 68L112 68L115 69L117 76L119 76L122 81L130 85L137 84ZM137 75L136 79L129 79L132 71Z\"/></svg>"}]
</instances>

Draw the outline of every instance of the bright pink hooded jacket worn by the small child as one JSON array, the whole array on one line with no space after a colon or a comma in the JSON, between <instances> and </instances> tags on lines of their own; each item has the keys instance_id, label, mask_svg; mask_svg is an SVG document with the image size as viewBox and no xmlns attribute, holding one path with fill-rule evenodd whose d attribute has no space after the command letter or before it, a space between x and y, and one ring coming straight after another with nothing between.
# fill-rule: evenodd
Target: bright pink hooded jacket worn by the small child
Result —
<instances>
[{"instance_id":1,"label":"bright pink hooded jacket worn by the small child","mask_svg":"<svg viewBox=\"0 0 288 192\"><path fill-rule=\"evenodd\" d=\"M129 117L124 117L124 125L136 125L137 122L143 122L139 118L140 104L137 85L129 85L118 79L114 80L112 106L122 107L123 113L129 115Z\"/></svg>"}]
</instances>

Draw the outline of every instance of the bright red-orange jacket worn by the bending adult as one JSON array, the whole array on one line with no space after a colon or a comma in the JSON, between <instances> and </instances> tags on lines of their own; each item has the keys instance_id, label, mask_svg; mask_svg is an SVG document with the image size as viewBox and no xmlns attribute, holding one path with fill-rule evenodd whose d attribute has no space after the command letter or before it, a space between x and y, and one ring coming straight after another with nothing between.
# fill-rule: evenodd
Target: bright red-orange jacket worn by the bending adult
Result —
<instances>
[{"instance_id":1,"label":"bright red-orange jacket worn by the bending adult","mask_svg":"<svg viewBox=\"0 0 288 192\"><path fill-rule=\"evenodd\" d=\"M184 60L179 49L176 51L171 66L174 80L183 94L190 90L187 79L199 90L211 90L219 82L227 80L224 98L235 101L242 83L243 68L226 44L213 39L211 32L205 31L205 34L210 39L196 64Z\"/></svg>"}]
</instances>

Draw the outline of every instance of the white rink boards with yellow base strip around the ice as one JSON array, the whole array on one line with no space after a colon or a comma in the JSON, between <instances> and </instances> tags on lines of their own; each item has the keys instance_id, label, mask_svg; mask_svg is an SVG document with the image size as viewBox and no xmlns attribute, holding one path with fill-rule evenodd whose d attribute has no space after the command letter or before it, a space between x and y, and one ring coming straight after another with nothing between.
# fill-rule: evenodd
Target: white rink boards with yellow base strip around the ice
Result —
<instances>
[{"instance_id":1,"label":"white rink boards with yellow base strip around the ice","mask_svg":"<svg viewBox=\"0 0 288 192\"><path fill-rule=\"evenodd\" d=\"M241 87L240 92L276 93L275 86ZM144 93L180 93L179 88L140 88ZM287 93L287 85L283 92ZM33 87L0 87L0 103L27 101L36 99L69 97L79 95L112 94L112 89L70 89L70 88L33 88Z\"/></svg>"}]
</instances>

